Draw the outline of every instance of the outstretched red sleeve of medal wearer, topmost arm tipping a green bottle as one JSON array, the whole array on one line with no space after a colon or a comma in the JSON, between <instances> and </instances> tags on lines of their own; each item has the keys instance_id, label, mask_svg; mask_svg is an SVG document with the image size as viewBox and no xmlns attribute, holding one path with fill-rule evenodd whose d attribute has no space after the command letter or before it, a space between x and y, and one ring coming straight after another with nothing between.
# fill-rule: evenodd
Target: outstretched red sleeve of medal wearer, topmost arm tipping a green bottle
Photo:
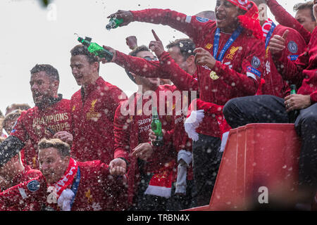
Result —
<instances>
[{"instance_id":1,"label":"outstretched red sleeve of medal wearer, topmost arm tipping a green bottle","mask_svg":"<svg viewBox=\"0 0 317 225\"><path fill-rule=\"evenodd\" d=\"M195 43L208 21L208 19L187 16L170 9L150 8L131 12L135 21L168 25L187 34Z\"/></svg>"}]
</instances>

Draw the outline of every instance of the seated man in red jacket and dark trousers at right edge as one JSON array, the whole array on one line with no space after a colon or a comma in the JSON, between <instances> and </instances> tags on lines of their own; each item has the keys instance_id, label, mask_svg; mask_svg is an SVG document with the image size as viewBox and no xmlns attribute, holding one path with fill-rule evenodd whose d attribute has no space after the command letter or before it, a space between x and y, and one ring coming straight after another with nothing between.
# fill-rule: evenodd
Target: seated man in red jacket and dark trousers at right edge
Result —
<instances>
[{"instance_id":1,"label":"seated man in red jacket and dark trousers at right edge","mask_svg":"<svg viewBox=\"0 0 317 225\"><path fill-rule=\"evenodd\" d=\"M317 19L317 0L314 1ZM275 64L282 65L281 75L292 82L302 82L297 94L285 99L276 96L249 96L229 101L223 113L232 128L254 122L294 122L297 134L302 139L299 157L299 191L306 195L302 204L313 203L317 189L317 27L311 34L311 41L302 55L292 62L280 58L285 48L285 39L275 36L270 49ZM294 113L297 112L297 113ZM316 204L316 203L313 203Z\"/></svg>"}]
</instances>

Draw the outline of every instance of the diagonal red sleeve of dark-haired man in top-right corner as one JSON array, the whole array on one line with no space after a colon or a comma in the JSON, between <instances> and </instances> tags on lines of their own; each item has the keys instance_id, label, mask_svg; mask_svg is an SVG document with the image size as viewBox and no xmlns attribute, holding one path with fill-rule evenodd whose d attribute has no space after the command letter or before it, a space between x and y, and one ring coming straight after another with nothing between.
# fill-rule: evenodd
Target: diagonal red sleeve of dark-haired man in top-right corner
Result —
<instances>
[{"instance_id":1,"label":"diagonal red sleeve of dark-haired man in top-right corner","mask_svg":"<svg viewBox=\"0 0 317 225\"><path fill-rule=\"evenodd\" d=\"M304 37L306 44L311 39L311 33L306 30L285 8L283 8L276 0L268 0L268 8L275 16L275 20L285 27L291 27L299 32Z\"/></svg>"}]
</instances>

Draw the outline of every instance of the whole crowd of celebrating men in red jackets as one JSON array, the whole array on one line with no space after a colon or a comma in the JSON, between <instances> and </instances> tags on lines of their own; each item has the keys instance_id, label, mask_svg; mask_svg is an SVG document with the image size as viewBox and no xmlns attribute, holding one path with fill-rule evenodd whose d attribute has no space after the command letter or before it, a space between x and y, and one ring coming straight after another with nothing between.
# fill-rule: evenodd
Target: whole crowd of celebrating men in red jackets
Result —
<instances>
[{"instance_id":1,"label":"whole crowd of celebrating men in red jackets","mask_svg":"<svg viewBox=\"0 0 317 225\"><path fill-rule=\"evenodd\" d=\"M268 18L270 8L279 25ZM317 200L317 0L217 0L215 12L189 16L169 9L118 11L134 21L168 25L189 38L167 51L148 46L108 62L84 45L70 50L80 89L58 93L58 70L35 65L35 107L8 106L1 122L0 210L185 210L209 205L226 134L249 123L294 123L302 140L294 209ZM125 69L138 89L128 98L99 74L101 63ZM123 75L123 77L126 77ZM290 94L296 85L297 94ZM178 105L181 105L178 107ZM152 110L163 145L151 130ZM2 127L1 127L2 128Z\"/></svg>"}]
</instances>

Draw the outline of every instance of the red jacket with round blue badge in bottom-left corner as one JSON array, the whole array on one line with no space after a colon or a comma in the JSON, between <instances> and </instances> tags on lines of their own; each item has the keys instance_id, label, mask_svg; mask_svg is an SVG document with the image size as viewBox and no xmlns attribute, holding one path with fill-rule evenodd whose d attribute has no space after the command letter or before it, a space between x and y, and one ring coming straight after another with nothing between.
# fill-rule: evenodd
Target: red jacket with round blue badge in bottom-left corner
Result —
<instances>
[{"instance_id":1,"label":"red jacket with round blue badge in bottom-left corner","mask_svg":"<svg viewBox=\"0 0 317 225\"><path fill-rule=\"evenodd\" d=\"M39 170L25 167L13 179L15 186L0 193L0 211L40 211L46 201L46 183Z\"/></svg>"}]
</instances>

